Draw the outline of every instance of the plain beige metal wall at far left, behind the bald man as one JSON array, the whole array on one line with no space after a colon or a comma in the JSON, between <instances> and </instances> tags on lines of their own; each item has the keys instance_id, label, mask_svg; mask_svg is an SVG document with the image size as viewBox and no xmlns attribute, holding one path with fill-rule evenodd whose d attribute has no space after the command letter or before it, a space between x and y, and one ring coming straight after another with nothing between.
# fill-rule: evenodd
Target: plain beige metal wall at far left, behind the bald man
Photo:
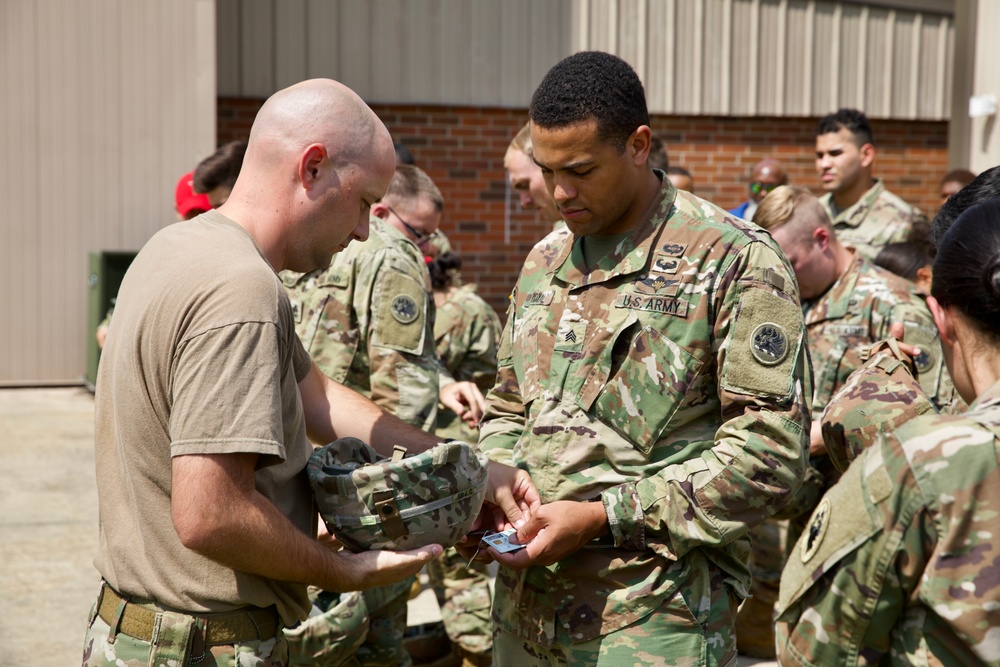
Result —
<instances>
[{"instance_id":1,"label":"plain beige metal wall at far left, behind the bald man","mask_svg":"<svg viewBox=\"0 0 1000 667\"><path fill-rule=\"evenodd\" d=\"M75 381L88 252L173 221L215 146L215 3L5 0L0 53L0 384Z\"/></svg>"}]
</instances>

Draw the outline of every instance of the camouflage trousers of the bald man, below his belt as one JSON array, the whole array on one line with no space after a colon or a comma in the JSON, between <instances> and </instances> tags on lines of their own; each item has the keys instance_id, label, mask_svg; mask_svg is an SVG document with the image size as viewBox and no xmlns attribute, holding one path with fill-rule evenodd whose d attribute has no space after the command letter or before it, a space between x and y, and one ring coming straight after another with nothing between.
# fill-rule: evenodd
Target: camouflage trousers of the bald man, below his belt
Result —
<instances>
[{"instance_id":1,"label":"camouflage trousers of the bald man, below his belt","mask_svg":"<svg viewBox=\"0 0 1000 667\"><path fill-rule=\"evenodd\" d=\"M169 618L180 620L181 614ZM190 617L187 617L190 618ZM190 628L178 629L164 616L156 643L129 637L121 632L109 642L111 627L97 615L97 605L90 612L87 637L83 644L83 667L286 667L288 644L280 632L277 637L242 644L192 647ZM191 647L191 648L189 648ZM197 655L195 655L197 652Z\"/></svg>"}]
</instances>

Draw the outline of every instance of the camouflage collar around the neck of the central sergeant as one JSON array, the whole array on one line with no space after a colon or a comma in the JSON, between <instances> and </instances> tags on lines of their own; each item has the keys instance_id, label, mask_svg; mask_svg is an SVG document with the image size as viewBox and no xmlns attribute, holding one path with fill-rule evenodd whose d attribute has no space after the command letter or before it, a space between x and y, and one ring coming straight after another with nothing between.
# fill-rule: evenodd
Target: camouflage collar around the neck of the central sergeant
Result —
<instances>
[{"instance_id":1,"label":"camouflage collar around the neck of the central sergeant","mask_svg":"<svg viewBox=\"0 0 1000 667\"><path fill-rule=\"evenodd\" d=\"M636 273L645 268L649 264L653 242L658 236L656 232L670 217L674 199L677 197L677 190L670 184L670 181L659 174L657 176L661 181L660 191L657 194L656 202L650 207L650 215L615 247L615 251L611 255L601 258L595 268L586 272L586 263L583 259L583 238L571 236L572 243L566 243L562 247L552 263L554 268L551 273L569 285L585 287L611 280L617 276Z\"/></svg>"}]
</instances>

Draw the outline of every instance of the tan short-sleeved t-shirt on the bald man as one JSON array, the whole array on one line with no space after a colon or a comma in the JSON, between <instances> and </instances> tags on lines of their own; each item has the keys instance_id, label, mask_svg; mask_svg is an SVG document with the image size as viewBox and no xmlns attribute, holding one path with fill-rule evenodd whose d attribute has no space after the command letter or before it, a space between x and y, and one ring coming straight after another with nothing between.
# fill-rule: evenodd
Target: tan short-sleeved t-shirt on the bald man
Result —
<instances>
[{"instance_id":1,"label":"tan short-sleeved t-shirt on the bald man","mask_svg":"<svg viewBox=\"0 0 1000 667\"><path fill-rule=\"evenodd\" d=\"M174 609L276 604L288 624L305 618L303 584L185 548L170 515L171 457L253 452L257 490L314 529L297 386L311 362L281 281L243 228L210 211L150 239L125 275L113 329L95 399L95 566L117 591Z\"/></svg>"}]
</instances>

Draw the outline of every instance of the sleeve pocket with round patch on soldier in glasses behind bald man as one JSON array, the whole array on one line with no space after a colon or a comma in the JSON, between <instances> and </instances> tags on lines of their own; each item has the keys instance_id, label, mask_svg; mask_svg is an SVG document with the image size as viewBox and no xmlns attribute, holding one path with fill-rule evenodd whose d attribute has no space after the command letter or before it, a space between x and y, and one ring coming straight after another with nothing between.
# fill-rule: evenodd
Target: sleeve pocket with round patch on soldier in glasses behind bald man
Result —
<instances>
[{"instance_id":1,"label":"sleeve pocket with round patch on soldier in glasses behind bald man","mask_svg":"<svg viewBox=\"0 0 1000 667\"><path fill-rule=\"evenodd\" d=\"M420 354L427 298L423 284L405 273L388 272L372 295L372 345Z\"/></svg>"}]
</instances>

